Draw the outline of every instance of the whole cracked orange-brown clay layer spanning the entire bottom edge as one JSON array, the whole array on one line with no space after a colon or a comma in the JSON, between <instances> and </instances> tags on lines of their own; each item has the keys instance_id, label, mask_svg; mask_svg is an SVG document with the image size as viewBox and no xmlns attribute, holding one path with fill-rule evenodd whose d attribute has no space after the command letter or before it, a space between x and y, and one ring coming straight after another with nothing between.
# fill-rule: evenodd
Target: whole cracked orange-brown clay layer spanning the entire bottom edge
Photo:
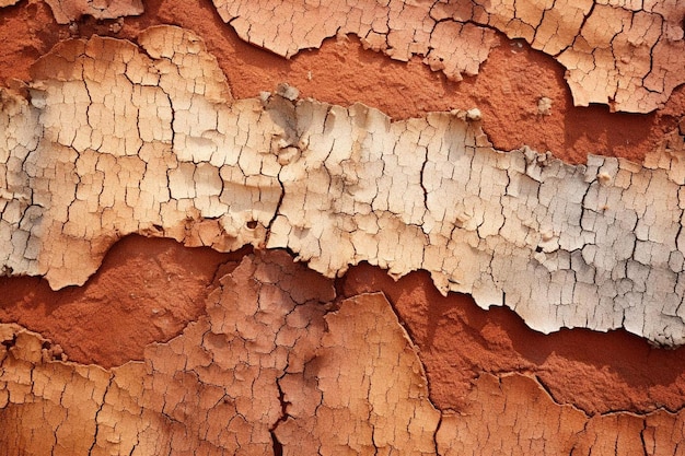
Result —
<instances>
[{"instance_id":1,"label":"whole cracked orange-brown clay layer spanning the entire bottom edge","mask_svg":"<svg viewBox=\"0 0 685 456\"><path fill-rule=\"evenodd\" d=\"M332 281L288 254L247 255L209 294L205 316L148 346L143 361L111 370L65 362L39 335L0 325L2 447L129 456L682 453L682 411L587 416L522 374L484 374L462 410L439 411L383 294L335 299Z\"/></svg>"}]
</instances>

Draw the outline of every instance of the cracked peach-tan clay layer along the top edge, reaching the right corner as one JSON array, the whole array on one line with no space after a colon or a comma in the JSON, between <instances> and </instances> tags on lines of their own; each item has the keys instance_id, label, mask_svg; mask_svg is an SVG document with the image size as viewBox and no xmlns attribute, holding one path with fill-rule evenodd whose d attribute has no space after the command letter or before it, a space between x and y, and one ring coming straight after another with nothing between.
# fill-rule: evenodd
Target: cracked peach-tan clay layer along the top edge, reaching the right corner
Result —
<instances>
[{"instance_id":1,"label":"cracked peach-tan clay layer along the top edge, reaching the right corner","mask_svg":"<svg viewBox=\"0 0 685 456\"><path fill-rule=\"evenodd\" d=\"M648 113L685 82L685 4L674 0L213 3L241 38L285 57L355 34L371 49L423 57L457 80L478 72L500 31L561 63L577 106Z\"/></svg>"}]
</instances>

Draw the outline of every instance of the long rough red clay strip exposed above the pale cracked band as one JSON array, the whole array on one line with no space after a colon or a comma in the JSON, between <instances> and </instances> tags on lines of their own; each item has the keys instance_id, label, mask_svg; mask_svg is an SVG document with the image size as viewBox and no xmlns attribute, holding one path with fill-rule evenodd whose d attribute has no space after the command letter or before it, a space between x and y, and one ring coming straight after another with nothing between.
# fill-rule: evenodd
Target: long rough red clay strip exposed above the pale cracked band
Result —
<instances>
[{"instance_id":1,"label":"long rough red clay strip exposed above the pale cracked band","mask_svg":"<svg viewBox=\"0 0 685 456\"><path fill-rule=\"evenodd\" d=\"M484 113L484 129L496 148L513 150L527 144L571 163L584 163L588 153L640 162L664 132L677 128L683 115L682 109L674 116L609 113L607 106L573 107L562 67L524 42L503 35L477 77L451 82L420 58L393 61L364 50L353 37L330 38L321 49L285 60L242 42L209 0L194 3L194 8L183 0L150 0L143 15L121 21L84 17L70 28L56 24L48 7L37 0L5 8L0 19L0 74L30 80L35 59L69 36L96 33L136 40L148 26L175 24L205 39L236 97L256 96L279 82L289 82L304 97L344 106L361 102L396 119L476 106ZM550 115L539 114L541 97L552 100ZM680 87L665 112L672 103L681 106L685 90Z\"/></svg>"}]
</instances>

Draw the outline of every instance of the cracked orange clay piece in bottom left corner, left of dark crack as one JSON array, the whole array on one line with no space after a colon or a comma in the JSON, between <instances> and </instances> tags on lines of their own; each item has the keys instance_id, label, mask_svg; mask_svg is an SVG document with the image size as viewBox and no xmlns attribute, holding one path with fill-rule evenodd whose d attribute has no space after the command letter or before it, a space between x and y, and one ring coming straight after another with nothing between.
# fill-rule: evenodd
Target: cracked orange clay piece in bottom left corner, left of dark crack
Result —
<instances>
[{"instance_id":1,"label":"cracked orange clay piece in bottom left corner, left of dark crack","mask_svg":"<svg viewBox=\"0 0 685 456\"><path fill-rule=\"evenodd\" d=\"M8 455L85 455L112 374L54 360L49 341L0 325L0 448Z\"/></svg>"}]
</instances>

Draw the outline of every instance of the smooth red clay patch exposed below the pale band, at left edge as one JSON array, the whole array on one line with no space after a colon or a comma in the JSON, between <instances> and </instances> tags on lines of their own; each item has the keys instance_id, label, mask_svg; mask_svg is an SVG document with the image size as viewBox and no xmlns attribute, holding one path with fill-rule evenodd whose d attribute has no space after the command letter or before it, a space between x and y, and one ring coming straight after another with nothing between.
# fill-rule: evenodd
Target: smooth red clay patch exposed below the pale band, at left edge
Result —
<instances>
[{"instance_id":1,"label":"smooth red clay patch exposed below the pale band, at left edge","mask_svg":"<svg viewBox=\"0 0 685 456\"><path fill-rule=\"evenodd\" d=\"M112 367L142 360L146 346L170 340L205 313L214 276L242 254L128 236L83 287L56 292L39 278L0 278L0 321L51 339L70 361Z\"/></svg>"}]
</instances>

